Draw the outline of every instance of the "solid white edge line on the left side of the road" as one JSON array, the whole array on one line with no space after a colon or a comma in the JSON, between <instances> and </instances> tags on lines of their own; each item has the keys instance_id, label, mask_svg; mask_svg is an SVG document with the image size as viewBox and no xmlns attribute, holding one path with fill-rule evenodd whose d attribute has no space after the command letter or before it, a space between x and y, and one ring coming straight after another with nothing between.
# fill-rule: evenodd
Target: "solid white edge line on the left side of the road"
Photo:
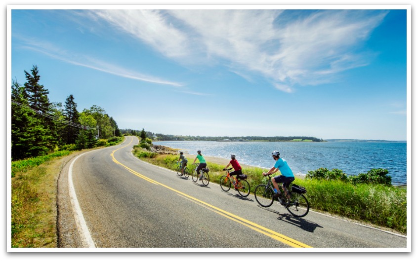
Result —
<instances>
[{"instance_id":1,"label":"solid white edge line on the left side of the road","mask_svg":"<svg viewBox=\"0 0 418 261\"><path fill-rule=\"evenodd\" d=\"M90 235L90 231L88 230L87 224L85 223L83 212L80 208L79 201L77 200L76 190L73 184L73 165L76 160L83 156L85 153L90 151L84 152L83 154L78 155L73 161L71 162L70 168L68 170L68 189L70 192L70 201L71 205L73 206L74 218L76 220L77 229L79 230L80 237L83 241L83 245L89 248L95 248L96 245L94 244L93 238Z\"/></svg>"}]
</instances>

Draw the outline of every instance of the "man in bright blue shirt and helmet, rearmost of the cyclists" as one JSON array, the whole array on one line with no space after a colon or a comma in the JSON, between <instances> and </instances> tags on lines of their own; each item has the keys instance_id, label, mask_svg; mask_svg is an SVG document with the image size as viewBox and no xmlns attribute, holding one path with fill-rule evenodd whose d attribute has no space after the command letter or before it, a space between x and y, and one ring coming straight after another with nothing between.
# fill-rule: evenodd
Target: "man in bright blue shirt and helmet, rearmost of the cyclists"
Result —
<instances>
[{"instance_id":1,"label":"man in bright blue shirt and helmet, rearmost of the cyclists","mask_svg":"<svg viewBox=\"0 0 418 261\"><path fill-rule=\"evenodd\" d=\"M288 186L291 182L294 181L294 175L288 163L286 162L286 160L280 157L279 151L275 150L271 154L273 155L273 159L276 160L276 163L267 173L263 172L263 176L276 173L280 170L280 173L282 175L276 176L273 179L271 179L274 188L276 188L277 190L277 192L273 195L273 197L277 198L281 196L278 184L282 183L283 191L285 191L284 187Z\"/></svg>"}]
</instances>

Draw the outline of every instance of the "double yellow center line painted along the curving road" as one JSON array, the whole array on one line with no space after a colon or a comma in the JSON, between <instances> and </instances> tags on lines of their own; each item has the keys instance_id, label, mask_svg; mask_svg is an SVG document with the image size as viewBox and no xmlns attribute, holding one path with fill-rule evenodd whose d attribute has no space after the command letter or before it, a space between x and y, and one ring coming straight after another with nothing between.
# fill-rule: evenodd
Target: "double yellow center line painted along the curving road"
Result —
<instances>
[{"instance_id":1,"label":"double yellow center line painted along the curving road","mask_svg":"<svg viewBox=\"0 0 418 261\"><path fill-rule=\"evenodd\" d=\"M129 146L130 144L131 144L131 143L129 143L128 145L126 145L126 146L124 146L124 147L121 147L121 148L119 148L119 149L123 149L123 148L125 148L125 147ZM207 208L207 209L209 209L209 210L211 210L211 211L213 211L213 212L215 212L215 213L217 213L217 214L219 214L219 215L221 215L221 216L223 216L223 217L225 217L225 218L227 218L227 219L230 219L230 220L235 221L235 222L237 222L237 223L239 223L239 224L243 224L243 225L245 225L245 226L247 226L247 227L250 227L251 229L253 229L253 230L255 230L255 231L259 232L259 233L262 233L262 234L264 234L264 235L266 235L266 236L269 236L269 237L271 237L271 238L273 238L273 239L276 239L276 240L278 240L278 241L280 241L280 242L282 242L282 243L284 243L284 244L287 244L287 245L289 245L289 246L291 246L291 247L298 247L298 248L310 248L310 247L311 247L311 246L308 246L308 245L306 245L306 244L303 244L303 243L301 243L301 242L299 242L299 241L296 241L296 240L294 240L293 238L287 237L287 236L285 236L285 235L282 235L282 234L280 234L280 233L277 233L276 231L273 231L273 230L271 230L271 229L268 229L268 228L266 228L266 227L264 227L264 226L261 226L261 225L259 225L259 224L255 224L255 223L253 223L253 222L251 222L251 221L249 221L249 220L243 219L243 218L238 217L238 216L236 216L236 215L234 215L234 214L232 214L232 213L229 213L229 212L227 212L227 211L225 211L225 210L222 210L222 209L220 209L220 208L217 208L217 207L215 207L215 206L212 206L212 205L210 205L210 204L208 204L208 203L206 203L206 202L204 202L204 201L202 201L202 200L200 200L200 199L197 199L197 198L192 197L192 196L190 196L190 195L188 195L188 194L185 194L185 193L183 193L183 192L181 192L181 191L178 191L177 189L174 189L174 188L172 188L172 187L169 187L169 186L167 186L167 185L164 185L164 184L162 184L162 183L159 183L159 182L157 182L157 181L155 181L155 180L152 180L152 179L150 179L150 178L148 178L148 177L146 177L146 176L144 176L144 175L142 175L142 174L140 174L140 173L138 173L138 172L136 172L136 171L134 171L134 170L130 169L129 167L125 166L124 164L122 164L121 162L119 162L119 161L115 158L114 153L115 153L115 151L117 151L117 150L119 150L119 149L115 149L115 150L113 150L113 151L112 151L111 156L112 156L113 161L114 161L116 164L119 164L119 165L121 165L122 167L124 167L124 168L125 168L127 171L129 171L130 173L132 173L132 174L134 174L134 175L138 176L139 178L144 179L144 180L146 180L146 181L148 181L148 182L150 182L150 183L153 183L153 184L155 184L155 185L160 185L160 186L166 187L166 188L168 188L168 189L170 189L170 190L172 190L172 191L174 191L174 192L178 193L179 195L181 195L181 196L183 196L183 197L185 197L185 198L189 199L190 201L192 201L192 202L194 202L194 203L196 203L196 204L199 204L199 205L201 205L201 206L204 206L205 208Z\"/></svg>"}]
</instances>

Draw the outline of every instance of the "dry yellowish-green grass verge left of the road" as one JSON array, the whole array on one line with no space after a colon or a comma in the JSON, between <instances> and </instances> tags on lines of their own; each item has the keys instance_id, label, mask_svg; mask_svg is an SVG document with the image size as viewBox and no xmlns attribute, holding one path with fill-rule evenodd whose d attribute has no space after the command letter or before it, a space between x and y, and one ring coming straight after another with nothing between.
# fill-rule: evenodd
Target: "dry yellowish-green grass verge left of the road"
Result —
<instances>
[{"instance_id":1,"label":"dry yellowish-green grass verge left of the road","mask_svg":"<svg viewBox=\"0 0 418 261\"><path fill-rule=\"evenodd\" d=\"M11 180L11 247L57 247L56 193L62 157L16 172Z\"/></svg>"}]
</instances>

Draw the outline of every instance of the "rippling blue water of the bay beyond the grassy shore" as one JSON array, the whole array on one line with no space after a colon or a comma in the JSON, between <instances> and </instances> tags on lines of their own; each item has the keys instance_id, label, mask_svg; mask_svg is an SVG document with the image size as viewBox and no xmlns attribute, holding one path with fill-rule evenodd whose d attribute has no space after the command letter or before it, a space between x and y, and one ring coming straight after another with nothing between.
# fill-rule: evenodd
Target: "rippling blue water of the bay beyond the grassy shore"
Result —
<instances>
[{"instance_id":1,"label":"rippling blue water of the bay beyond the grassy shore","mask_svg":"<svg viewBox=\"0 0 418 261\"><path fill-rule=\"evenodd\" d=\"M407 183L407 144L385 142L154 142L190 154L229 159L235 154L242 164L271 168L271 152L279 150L293 173L306 174L319 168L340 169L348 175L367 173L373 168L389 171L393 185Z\"/></svg>"}]
</instances>

